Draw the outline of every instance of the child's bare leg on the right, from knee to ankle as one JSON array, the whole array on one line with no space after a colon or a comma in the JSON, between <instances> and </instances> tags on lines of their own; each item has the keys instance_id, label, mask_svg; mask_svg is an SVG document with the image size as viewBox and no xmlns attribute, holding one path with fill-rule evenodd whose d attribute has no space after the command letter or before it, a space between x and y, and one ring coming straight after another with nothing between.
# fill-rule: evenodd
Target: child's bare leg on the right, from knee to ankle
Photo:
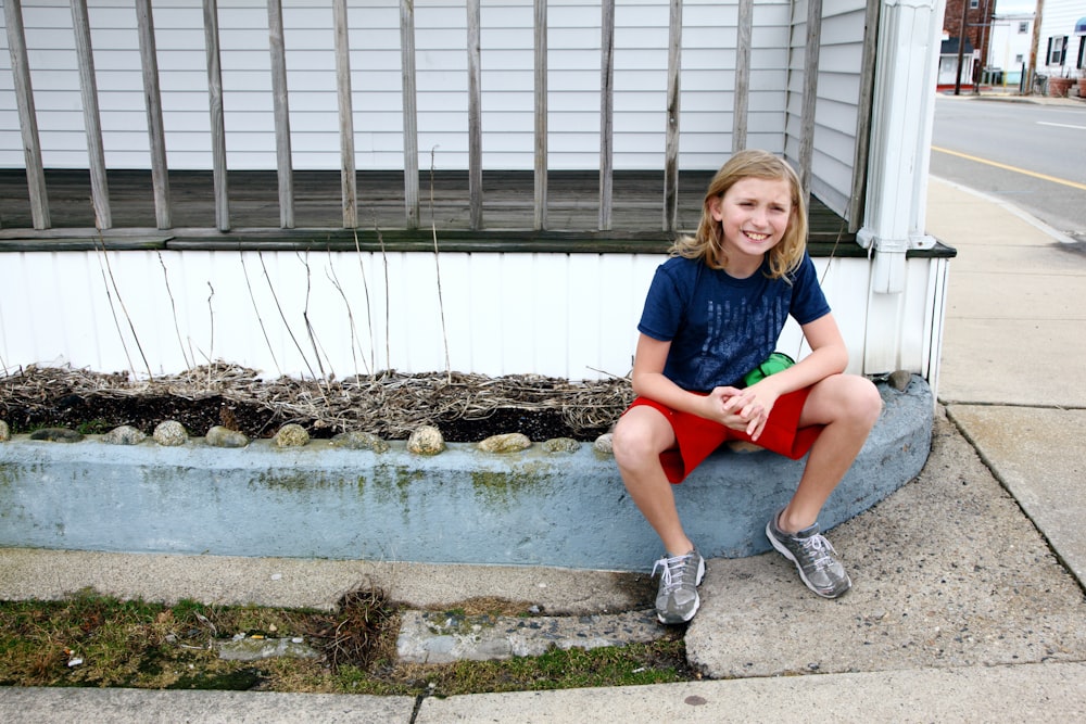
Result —
<instances>
[{"instance_id":1,"label":"child's bare leg on the right, from knee to ankle","mask_svg":"<svg viewBox=\"0 0 1086 724\"><path fill-rule=\"evenodd\" d=\"M795 533L818 520L826 498L859 455L879 419L882 398L867 378L834 374L811 388L799 425L825 425L811 446L799 486L778 525Z\"/></svg>"}]
</instances>

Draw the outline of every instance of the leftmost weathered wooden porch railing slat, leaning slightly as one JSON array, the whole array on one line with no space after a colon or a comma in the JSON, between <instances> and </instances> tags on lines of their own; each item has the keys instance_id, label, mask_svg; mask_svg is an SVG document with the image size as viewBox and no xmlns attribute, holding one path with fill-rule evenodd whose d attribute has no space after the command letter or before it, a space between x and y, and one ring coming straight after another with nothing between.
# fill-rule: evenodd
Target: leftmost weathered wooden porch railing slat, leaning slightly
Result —
<instances>
[{"instance_id":1,"label":"leftmost weathered wooden porch railing slat, leaning slightly","mask_svg":"<svg viewBox=\"0 0 1086 724\"><path fill-rule=\"evenodd\" d=\"M49 194L46 191L46 173L41 166L41 140L38 136L38 116L34 110L30 66L26 59L22 0L4 0L3 13L4 26L8 28L8 47L11 50L12 76L15 80L15 105L18 106L23 155L26 158L26 187L29 192L30 216L35 229L48 229L51 226Z\"/></svg>"}]
</instances>

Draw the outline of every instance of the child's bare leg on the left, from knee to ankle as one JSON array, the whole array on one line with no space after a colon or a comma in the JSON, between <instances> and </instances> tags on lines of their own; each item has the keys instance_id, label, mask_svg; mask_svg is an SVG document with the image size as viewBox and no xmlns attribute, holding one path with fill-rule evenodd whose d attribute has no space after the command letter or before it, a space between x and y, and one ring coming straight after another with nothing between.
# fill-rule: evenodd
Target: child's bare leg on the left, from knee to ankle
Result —
<instances>
[{"instance_id":1,"label":"child's bare leg on the left, from knee to ankle","mask_svg":"<svg viewBox=\"0 0 1086 724\"><path fill-rule=\"evenodd\" d=\"M667 418L653 407L640 405L619 419L613 447L622 482L641 515L660 536L665 550L681 556L694 544L682 530L674 493L660 465L660 453L674 442Z\"/></svg>"}]
</instances>

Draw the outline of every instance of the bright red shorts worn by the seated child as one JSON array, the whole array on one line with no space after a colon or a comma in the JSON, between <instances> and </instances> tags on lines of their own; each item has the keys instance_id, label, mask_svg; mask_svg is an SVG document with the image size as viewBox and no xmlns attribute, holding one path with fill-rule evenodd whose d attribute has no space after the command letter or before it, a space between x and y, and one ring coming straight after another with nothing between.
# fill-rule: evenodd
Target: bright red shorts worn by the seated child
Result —
<instances>
[{"instance_id":1,"label":"bright red shorts worn by the seated child","mask_svg":"<svg viewBox=\"0 0 1086 724\"><path fill-rule=\"evenodd\" d=\"M781 395L773 405L766 428L761 431L758 442L740 430L725 428L719 422L707 420L691 412L680 412L661 405L655 399L637 397L630 409L637 405L648 405L659 410L671 423L675 433L675 446L660 453L664 472L672 483L681 483L686 475L709 457L723 443L741 440L754 443L773 453L798 460L807 455L811 445L822 432L822 425L799 427L799 415L807 403L810 388Z\"/></svg>"}]
</instances>

